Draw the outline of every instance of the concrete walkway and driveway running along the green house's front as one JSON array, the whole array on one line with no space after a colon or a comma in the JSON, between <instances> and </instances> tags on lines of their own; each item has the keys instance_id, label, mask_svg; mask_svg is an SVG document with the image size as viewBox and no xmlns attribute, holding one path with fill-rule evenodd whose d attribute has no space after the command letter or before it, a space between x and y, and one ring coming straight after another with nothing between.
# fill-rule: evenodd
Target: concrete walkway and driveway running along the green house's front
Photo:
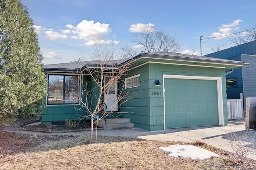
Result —
<instances>
[{"instance_id":1,"label":"concrete walkway and driveway running along the green house's front","mask_svg":"<svg viewBox=\"0 0 256 170\"><path fill-rule=\"evenodd\" d=\"M90 131L72 132L72 133L39 133L30 131L20 131L19 125L6 127L4 131L12 131L16 133L26 133L32 135L85 135L90 134ZM166 129L164 131L146 131L139 128L123 129L123 130L112 130L105 129L99 130L98 135L105 136L121 136L131 137L146 140L157 140L157 141L182 141L182 142L194 142L196 140L203 141L208 145L234 152L228 143L227 134L236 132L244 132L245 125L228 125L228 126L206 126L206 127L186 127L176 129ZM94 134L96 131L94 131ZM248 141L256 142L256 136L254 135L256 130L247 131ZM256 154L251 154L248 158L256 160Z\"/></svg>"}]
</instances>

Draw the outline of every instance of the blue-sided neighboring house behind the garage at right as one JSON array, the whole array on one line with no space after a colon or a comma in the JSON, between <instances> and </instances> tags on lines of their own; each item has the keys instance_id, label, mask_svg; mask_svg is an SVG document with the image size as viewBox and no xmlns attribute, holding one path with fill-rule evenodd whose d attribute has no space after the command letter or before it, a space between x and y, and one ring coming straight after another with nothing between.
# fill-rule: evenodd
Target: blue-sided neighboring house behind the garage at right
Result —
<instances>
[{"instance_id":1,"label":"blue-sided neighboring house behind the garage at right","mask_svg":"<svg viewBox=\"0 0 256 170\"><path fill-rule=\"evenodd\" d=\"M226 75L227 99L244 97L244 110L247 97L256 97L256 41L237 45L228 49L205 55L220 59L229 59L249 63L249 66L234 68Z\"/></svg>"}]
</instances>

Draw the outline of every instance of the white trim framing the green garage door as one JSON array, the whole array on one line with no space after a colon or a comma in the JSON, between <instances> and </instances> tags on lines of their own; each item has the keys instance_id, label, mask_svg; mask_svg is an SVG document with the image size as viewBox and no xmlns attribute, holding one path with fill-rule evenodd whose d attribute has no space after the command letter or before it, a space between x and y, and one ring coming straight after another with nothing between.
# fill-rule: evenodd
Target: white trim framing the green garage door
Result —
<instances>
[{"instance_id":1,"label":"white trim framing the green garage door","mask_svg":"<svg viewBox=\"0 0 256 170\"><path fill-rule=\"evenodd\" d=\"M224 115L223 115L223 98L222 98L222 78L221 77L207 77L207 76L181 76L181 75L163 75L163 86L164 78L179 78L179 79L196 79L196 80L216 80L217 81L217 92L218 92L218 115L219 115L219 125L224 125ZM164 95L165 95L165 88ZM163 96L164 96L163 95ZM165 123L165 96L164 96L164 129L166 129Z\"/></svg>"}]
</instances>

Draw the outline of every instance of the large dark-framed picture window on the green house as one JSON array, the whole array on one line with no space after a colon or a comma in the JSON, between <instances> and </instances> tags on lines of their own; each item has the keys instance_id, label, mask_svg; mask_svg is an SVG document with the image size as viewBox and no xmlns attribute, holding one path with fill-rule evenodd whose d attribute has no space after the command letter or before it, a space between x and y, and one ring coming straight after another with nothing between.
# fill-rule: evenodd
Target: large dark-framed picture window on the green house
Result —
<instances>
[{"instance_id":1,"label":"large dark-framed picture window on the green house","mask_svg":"<svg viewBox=\"0 0 256 170\"><path fill-rule=\"evenodd\" d=\"M47 104L79 104L78 78L70 75L48 75Z\"/></svg>"}]
</instances>

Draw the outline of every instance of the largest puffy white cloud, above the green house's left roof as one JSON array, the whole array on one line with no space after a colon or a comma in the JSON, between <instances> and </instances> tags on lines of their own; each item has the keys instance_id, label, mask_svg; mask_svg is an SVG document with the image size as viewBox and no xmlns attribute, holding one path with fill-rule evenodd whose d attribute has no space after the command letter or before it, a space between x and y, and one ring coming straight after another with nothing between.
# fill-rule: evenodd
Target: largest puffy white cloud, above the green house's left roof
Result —
<instances>
[{"instance_id":1,"label":"largest puffy white cloud, above the green house's left roof","mask_svg":"<svg viewBox=\"0 0 256 170\"><path fill-rule=\"evenodd\" d=\"M102 39L106 39L108 34L111 32L109 24L100 22L94 23L92 20L83 20L76 26L68 24L66 27L71 29L72 33L79 37L79 39L84 39L86 41L104 41ZM90 42L87 43L90 44Z\"/></svg>"}]
</instances>

